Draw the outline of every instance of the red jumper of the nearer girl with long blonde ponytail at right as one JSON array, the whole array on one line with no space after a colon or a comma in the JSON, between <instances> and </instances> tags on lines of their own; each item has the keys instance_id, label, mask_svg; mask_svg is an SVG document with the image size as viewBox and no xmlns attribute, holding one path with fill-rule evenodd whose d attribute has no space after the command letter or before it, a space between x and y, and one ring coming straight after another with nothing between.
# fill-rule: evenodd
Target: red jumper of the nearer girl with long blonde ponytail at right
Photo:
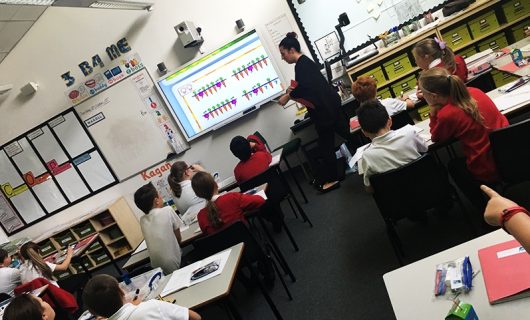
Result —
<instances>
[{"instance_id":1,"label":"red jumper of the nearer girl with long blonde ponytail at right","mask_svg":"<svg viewBox=\"0 0 530 320\"><path fill-rule=\"evenodd\" d=\"M500 178L490 149L489 133L504 128L509 123L484 92L476 88L468 88L468 91L477 101L484 125L449 102L440 108L436 115L430 116L431 138L433 142L444 142L452 138L460 140L466 156L467 169L475 179L497 182Z\"/></svg>"}]
</instances>

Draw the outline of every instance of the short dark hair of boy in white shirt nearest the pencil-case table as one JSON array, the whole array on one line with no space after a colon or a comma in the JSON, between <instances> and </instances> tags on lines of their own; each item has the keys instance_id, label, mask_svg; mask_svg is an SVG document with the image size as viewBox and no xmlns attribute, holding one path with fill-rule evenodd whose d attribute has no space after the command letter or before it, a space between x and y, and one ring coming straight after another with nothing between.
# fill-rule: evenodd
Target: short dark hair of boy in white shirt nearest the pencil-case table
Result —
<instances>
[{"instance_id":1,"label":"short dark hair of boy in white shirt nearest the pencil-case table","mask_svg":"<svg viewBox=\"0 0 530 320\"><path fill-rule=\"evenodd\" d=\"M83 302L93 315L110 318L123 306L123 291L115 278L98 274L85 285Z\"/></svg>"}]
</instances>

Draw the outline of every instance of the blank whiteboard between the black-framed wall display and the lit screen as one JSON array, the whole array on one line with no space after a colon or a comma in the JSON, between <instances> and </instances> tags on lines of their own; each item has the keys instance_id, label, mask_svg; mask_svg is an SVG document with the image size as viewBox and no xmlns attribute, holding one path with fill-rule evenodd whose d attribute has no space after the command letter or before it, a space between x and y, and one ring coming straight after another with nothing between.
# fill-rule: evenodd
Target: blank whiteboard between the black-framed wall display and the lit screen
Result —
<instances>
[{"instance_id":1,"label":"blank whiteboard between the black-framed wall display and the lit screen","mask_svg":"<svg viewBox=\"0 0 530 320\"><path fill-rule=\"evenodd\" d=\"M171 121L145 69L75 107L90 135L119 180L165 160L174 152L163 132ZM174 124L172 123L174 127ZM180 132L167 133L186 143ZM187 144L186 144L187 146ZM89 162L85 166L97 165ZM94 177L94 184L108 176ZM99 179L102 179L99 181Z\"/></svg>"}]
</instances>

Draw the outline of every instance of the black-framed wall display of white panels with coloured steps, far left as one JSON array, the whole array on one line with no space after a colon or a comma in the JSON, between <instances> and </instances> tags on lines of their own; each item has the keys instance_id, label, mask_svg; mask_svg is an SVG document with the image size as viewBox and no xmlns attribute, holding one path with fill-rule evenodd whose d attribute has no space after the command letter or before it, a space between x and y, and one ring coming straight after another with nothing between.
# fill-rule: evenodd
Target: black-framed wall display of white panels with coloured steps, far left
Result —
<instances>
[{"instance_id":1,"label":"black-framed wall display of white panels with coloured steps, far left","mask_svg":"<svg viewBox=\"0 0 530 320\"><path fill-rule=\"evenodd\" d=\"M0 226L11 235L116 182L70 109L0 148Z\"/></svg>"}]
</instances>

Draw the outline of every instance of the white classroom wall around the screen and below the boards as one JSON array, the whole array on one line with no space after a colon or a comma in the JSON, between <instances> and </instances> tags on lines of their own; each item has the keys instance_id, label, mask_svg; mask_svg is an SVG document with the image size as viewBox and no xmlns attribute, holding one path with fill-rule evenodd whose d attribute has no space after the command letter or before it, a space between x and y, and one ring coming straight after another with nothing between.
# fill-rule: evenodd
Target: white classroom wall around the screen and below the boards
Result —
<instances>
[{"instance_id":1,"label":"white classroom wall around the screen and below the boards","mask_svg":"<svg viewBox=\"0 0 530 320\"><path fill-rule=\"evenodd\" d=\"M157 63L163 61L171 70L200 55L197 49L183 48L177 39L173 26L184 20L203 29L202 51L208 52L234 37L235 21L243 19L247 26L263 31L284 78L294 78L294 67L280 60L264 28L266 23L284 13L299 33L284 0L156 0L152 12L50 7L0 64L0 83L14 85L9 94L0 96L0 145L70 107L60 75L71 71L77 81L81 81L83 77L77 65L89 61L94 54L103 56L105 48L122 37L127 37L133 51L140 54L155 79L158 77ZM39 90L30 97L21 96L19 88L28 81L38 82ZM191 149L182 158L189 162L201 161L208 170L219 172L224 179L232 175L236 164L228 150L233 136L259 129L271 146L280 145L291 136L289 127L295 112L294 106L287 109L274 103L263 106L259 112L192 142ZM37 238L120 196L125 196L140 216L132 193L143 183L145 181L137 175L10 238ZM0 242L6 239L0 231Z\"/></svg>"}]
</instances>

